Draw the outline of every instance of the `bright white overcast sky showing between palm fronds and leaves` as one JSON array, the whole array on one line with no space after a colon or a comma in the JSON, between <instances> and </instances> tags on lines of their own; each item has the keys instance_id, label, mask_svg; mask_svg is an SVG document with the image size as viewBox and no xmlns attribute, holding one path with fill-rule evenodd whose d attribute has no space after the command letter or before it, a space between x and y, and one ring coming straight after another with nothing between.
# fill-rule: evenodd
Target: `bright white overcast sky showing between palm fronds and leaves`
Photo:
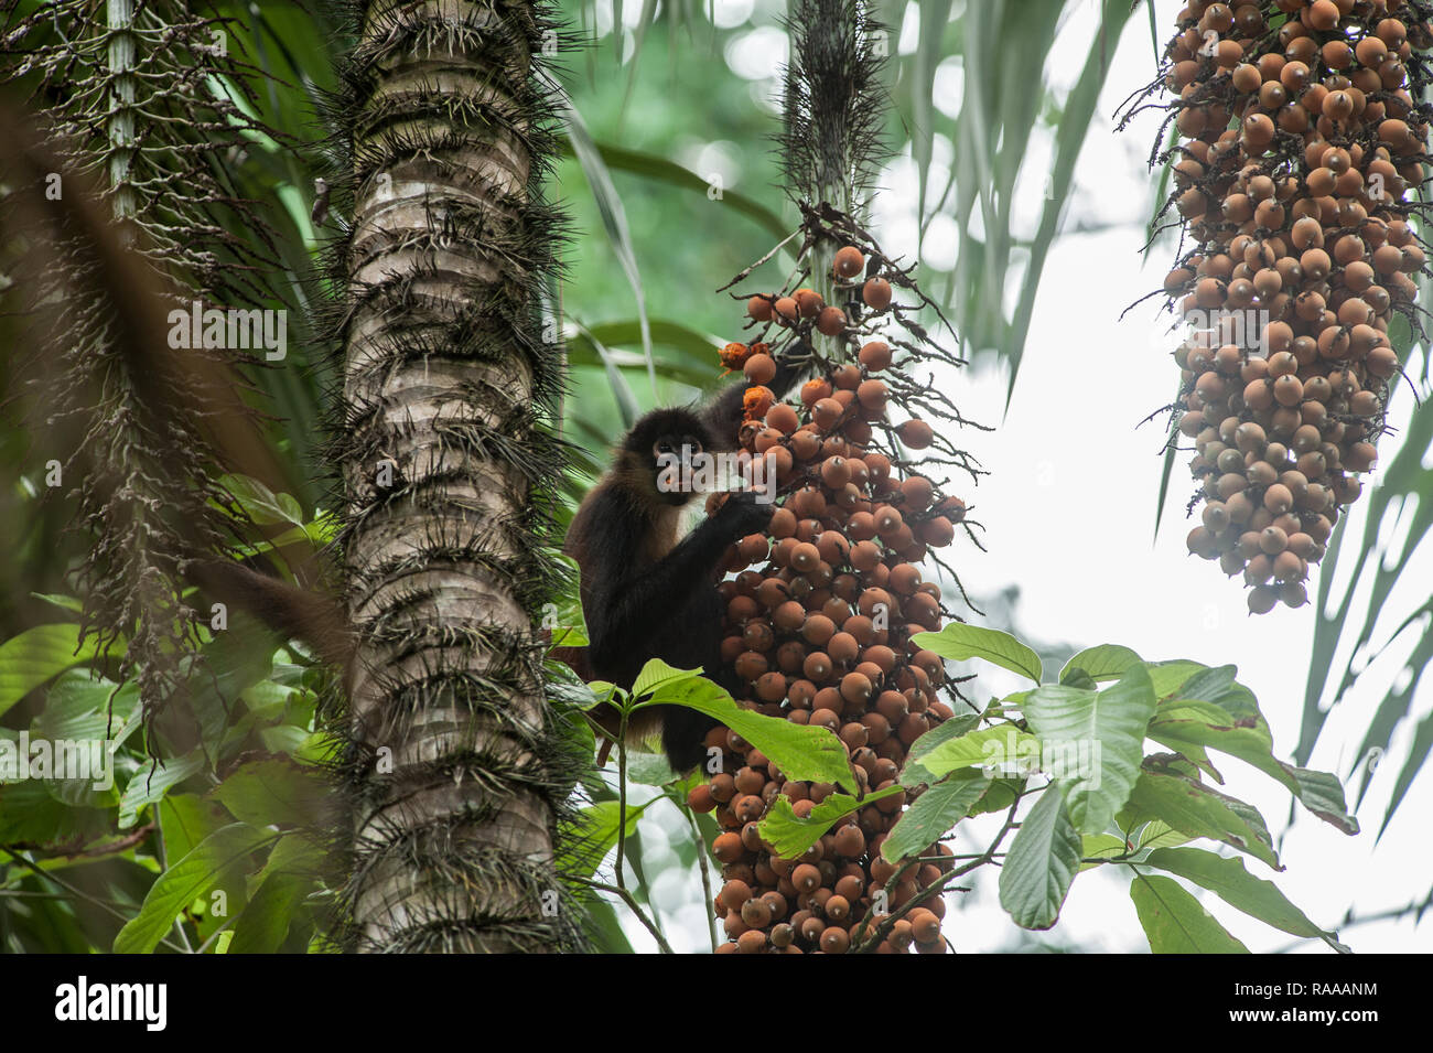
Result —
<instances>
[{"instance_id":1,"label":"bright white overcast sky showing between palm fronds and leaves","mask_svg":"<svg viewBox=\"0 0 1433 1053\"><path fill-rule=\"evenodd\" d=\"M1176 3L1161 6L1165 21L1176 7ZM1060 87L1073 83L1096 14L1098 6L1086 0L1060 29L1056 63L1068 62L1048 72L1050 83ZM901 50L907 50L906 36L903 33ZM739 53L744 62L757 62L749 52ZM1149 266L1142 268L1142 228L1156 183L1156 176L1145 172L1144 159L1158 117L1115 136L1111 115L1134 86L1151 79L1152 63L1148 24L1141 10L1113 53L1098 123L1080 153L1075 195L1065 216L1065 228L1076 221L1122 225L1056 241L1040 284L1020 378L1003 421L1003 374L966 371L954 380L952 390L962 411L974 420L999 424L999 430L962 437L963 446L992 471L979 489L966 493L967 501L979 504L974 517L987 527L989 554L982 556L960 543L952 552L973 593L996 593L1010 585L1020 587L1017 616L1022 629L1036 639L1078 646L1122 643L1151 660L1189 658L1208 665L1238 665L1241 682L1254 691L1268 718L1275 752L1288 759L1298 741L1313 609L1280 607L1262 619L1251 619L1245 613L1241 583L1227 580L1217 564L1185 553L1184 534L1192 524L1184 517L1191 491L1185 468L1188 454L1175 466L1164 510L1165 526L1158 542L1151 543L1164 433L1159 423L1138 431L1135 424L1169 401L1178 372L1168 357L1172 344L1161 335L1168 319L1156 314L1154 301L1131 312L1125 322L1118 319L1128 304L1161 284L1172 249L1156 246ZM943 102L949 105L954 99L957 105L959 64L943 70L941 89ZM937 142L937 168L943 149L949 159L949 143ZM1022 173L1023 185L1035 188L1026 215L1032 228L1043 205L1039 188L1049 153L1048 142L1032 143L1027 170ZM877 203L877 236L883 242L913 242L913 176L898 160L887 175L887 192ZM931 183L939 186L941 182L931 176ZM950 236L949 228L936 225L927 239L927 258L947 252ZM1410 407L1404 387L1391 414L1394 423L1404 421ZM1391 460L1396 441L1396 436L1384 440L1380 450L1384 463ZM1366 501L1360 511L1364 507ZM1363 521L1363 514L1356 514L1350 526L1361 532ZM1401 596L1394 595L1397 619L1427 596L1433 577L1426 572L1433 563L1433 552L1420 556L1424 559L1400 586ZM1317 579L1310 582L1310 595L1315 583ZM1336 589L1336 599L1338 595ZM1367 670L1330 716L1311 766L1333 769L1347 781L1353 766L1350 754L1401 658L1390 655ZM983 683L989 692L1015 686L1013 678L1002 681L997 675ZM1399 725L1391 755L1377 769L1358 811L1364 832L1356 838L1344 837L1303 811L1290 828L1290 798L1283 787L1238 761L1219 765L1227 778L1224 792L1254 804L1268 821L1287 871L1275 875L1251 858L1245 858L1245 865L1258 877L1275 880L1285 895L1326 928L1337 927L1350 907L1358 914L1373 914L1422 898L1429 888L1433 867L1424 831L1433 779L1426 771L1377 845L1374 835L1413 726L1433 708L1430 693L1423 691L1414 701L1413 719ZM980 824L964 825L989 834ZM643 822L643 837L648 872L652 874L662 862L661 824ZM984 841L970 834L956 844L956 852L984 848ZM947 915L946 933L962 951L989 951L1013 943L1016 930L999 907L995 880L996 871L990 871L966 897L964 910L952 910ZM671 868L653 888L678 950L705 946L705 907L692 898L692 887L691 874ZM1059 925L1039 938L1080 950L1146 950L1126 890L1128 878L1112 880L1103 871L1082 874ZM1194 891L1250 950L1267 953L1294 943L1293 937L1247 918L1214 895ZM649 946L645 933L635 925L629 930L638 947ZM1357 951L1427 953L1433 950L1433 925L1416 928L1412 921L1358 925L1344 933L1344 943ZM1300 950L1318 953L1324 948L1301 941Z\"/></svg>"}]
</instances>

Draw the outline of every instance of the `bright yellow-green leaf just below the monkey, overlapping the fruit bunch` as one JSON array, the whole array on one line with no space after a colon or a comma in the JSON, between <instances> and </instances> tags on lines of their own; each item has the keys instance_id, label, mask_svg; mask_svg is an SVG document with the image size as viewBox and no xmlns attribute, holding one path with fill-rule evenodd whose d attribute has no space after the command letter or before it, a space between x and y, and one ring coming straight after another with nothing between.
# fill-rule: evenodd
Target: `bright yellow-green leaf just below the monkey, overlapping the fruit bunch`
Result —
<instances>
[{"instance_id":1,"label":"bright yellow-green leaf just below the monkey, overlapping the fruit bunch","mask_svg":"<svg viewBox=\"0 0 1433 1053\"><path fill-rule=\"evenodd\" d=\"M674 670L653 659L643 666L638 685L655 683L652 698L633 709L675 705L695 709L719 721L765 754L788 779L831 782L858 792L845 746L825 728L791 723L780 716L762 716L742 709L721 686L705 676Z\"/></svg>"}]
</instances>

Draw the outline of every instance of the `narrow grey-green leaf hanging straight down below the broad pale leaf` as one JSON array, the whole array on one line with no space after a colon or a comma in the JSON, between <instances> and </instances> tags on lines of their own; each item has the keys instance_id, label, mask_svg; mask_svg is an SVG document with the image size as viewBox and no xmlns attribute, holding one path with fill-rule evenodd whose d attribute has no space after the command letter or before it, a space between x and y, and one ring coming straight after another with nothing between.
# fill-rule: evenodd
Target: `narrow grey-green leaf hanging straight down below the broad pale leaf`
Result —
<instances>
[{"instance_id":1,"label":"narrow grey-green leaf hanging straight down below the broad pale leaf","mask_svg":"<svg viewBox=\"0 0 1433 1053\"><path fill-rule=\"evenodd\" d=\"M1079 870L1080 840L1065 811L1059 788L1048 787L1010 844L1000 868L1000 905L1020 928L1043 930L1060 917L1060 905Z\"/></svg>"}]
</instances>

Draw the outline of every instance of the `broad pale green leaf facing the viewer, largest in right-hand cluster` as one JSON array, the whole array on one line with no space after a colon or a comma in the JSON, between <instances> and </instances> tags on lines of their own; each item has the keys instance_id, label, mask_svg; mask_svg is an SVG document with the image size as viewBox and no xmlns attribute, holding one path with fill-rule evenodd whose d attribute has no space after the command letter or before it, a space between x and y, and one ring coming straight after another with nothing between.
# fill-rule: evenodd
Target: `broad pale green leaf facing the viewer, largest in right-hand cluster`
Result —
<instances>
[{"instance_id":1,"label":"broad pale green leaf facing the viewer, largest in right-hand cluster","mask_svg":"<svg viewBox=\"0 0 1433 1053\"><path fill-rule=\"evenodd\" d=\"M1155 689L1142 663L1128 666L1105 691L1046 685L1025 703L1040 739L1042 768L1062 782L1070 821L1082 834L1108 828L1129 798L1154 712ZM1065 775L1066 768L1073 774Z\"/></svg>"}]
</instances>

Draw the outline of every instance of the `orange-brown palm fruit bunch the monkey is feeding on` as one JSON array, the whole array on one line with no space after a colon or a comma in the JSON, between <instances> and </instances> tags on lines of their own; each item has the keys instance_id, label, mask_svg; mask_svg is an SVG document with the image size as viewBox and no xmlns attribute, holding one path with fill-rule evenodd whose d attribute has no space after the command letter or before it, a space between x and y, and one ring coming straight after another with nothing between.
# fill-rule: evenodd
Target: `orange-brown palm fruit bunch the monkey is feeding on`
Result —
<instances>
[{"instance_id":1,"label":"orange-brown palm fruit bunch the monkey is feeding on","mask_svg":"<svg viewBox=\"0 0 1433 1053\"><path fill-rule=\"evenodd\" d=\"M954 405L897 362L959 364L911 317L934 305L844 216L808 211L807 231L802 256L823 241L840 245L827 256L834 302L797 282L751 295L757 338L721 352L748 381L739 457L764 458L778 490L770 536L745 537L727 556L735 576L721 585L722 662L747 686L739 703L835 734L864 794L893 787L910 745L952 716L941 691L959 698L941 659L911 638L950 617L940 586L919 564L939 562L934 550L957 529L969 533L964 503L934 476L954 466L973 477L979 468L931 425L959 423ZM897 289L916 302L900 305ZM782 351L815 371L800 401L777 401L765 387ZM722 828L712 851L724 878L714 907L731 938L724 951L944 950L936 894L884 940L871 936L876 905L887 914L904 907L950 868L898 868L880 857L904 794L838 821L802 857L781 858L759 830L772 801L784 795L804 818L835 787L785 778L725 728L706 745L724 751L724 764L692 791L691 805L715 812ZM950 850L937 842L923 855L946 858Z\"/></svg>"}]
</instances>

